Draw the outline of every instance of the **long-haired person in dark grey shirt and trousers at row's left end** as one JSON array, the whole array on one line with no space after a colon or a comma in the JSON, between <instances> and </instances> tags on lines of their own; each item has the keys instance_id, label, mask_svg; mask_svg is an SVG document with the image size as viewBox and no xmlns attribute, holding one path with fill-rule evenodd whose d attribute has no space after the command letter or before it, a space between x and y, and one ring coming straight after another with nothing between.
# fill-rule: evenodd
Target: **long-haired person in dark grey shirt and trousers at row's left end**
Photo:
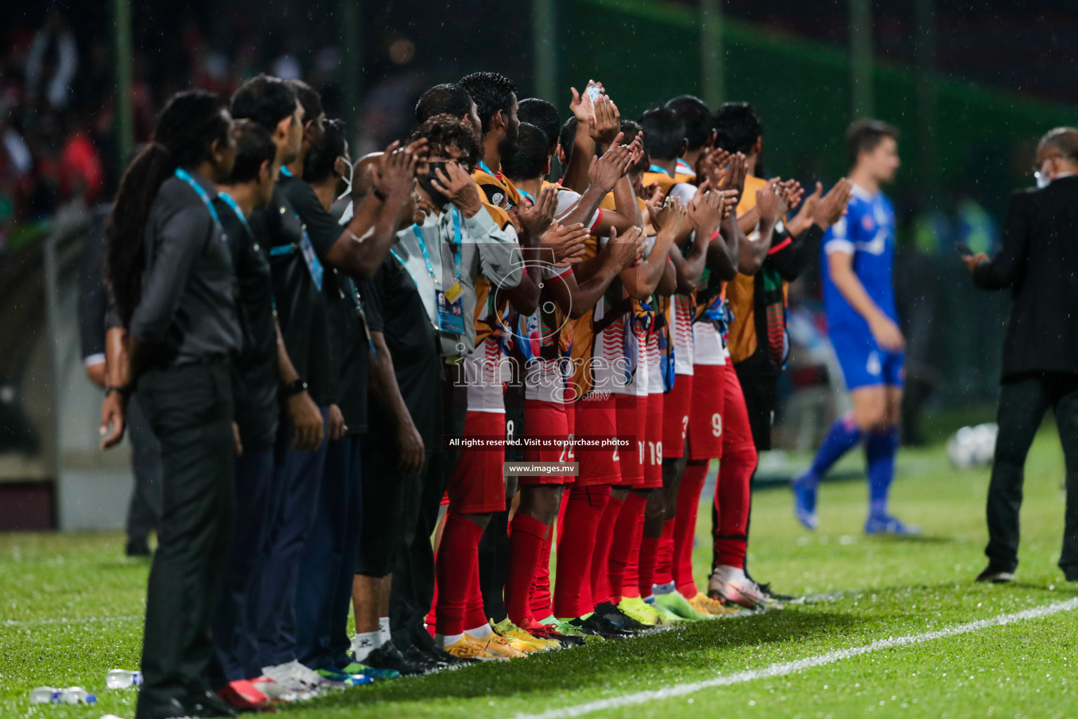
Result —
<instances>
[{"instance_id":1,"label":"long-haired person in dark grey shirt and trousers at row's left end","mask_svg":"<svg viewBox=\"0 0 1078 719\"><path fill-rule=\"evenodd\" d=\"M174 95L153 142L121 180L107 231L107 273L127 329L133 382L109 388L102 431L122 420L137 383L161 441L164 488L137 719L236 716L207 677L235 501L229 360L241 335L232 259L212 205L213 183L227 178L236 157L231 126L217 95Z\"/></svg>"}]
</instances>

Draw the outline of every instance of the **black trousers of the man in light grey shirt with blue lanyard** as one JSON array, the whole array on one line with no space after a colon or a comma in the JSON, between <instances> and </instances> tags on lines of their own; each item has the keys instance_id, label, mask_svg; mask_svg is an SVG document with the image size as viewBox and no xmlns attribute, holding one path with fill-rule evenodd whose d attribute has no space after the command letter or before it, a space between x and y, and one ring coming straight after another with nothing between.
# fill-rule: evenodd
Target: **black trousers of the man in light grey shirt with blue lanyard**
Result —
<instances>
[{"instance_id":1,"label":"black trousers of the man in light grey shirt with blue lanyard","mask_svg":"<svg viewBox=\"0 0 1078 719\"><path fill-rule=\"evenodd\" d=\"M455 378L456 370L445 373L442 392L442 431L459 437L465 431L467 388ZM428 447L427 465L417 492L405 496L401 544L389 594L389 630L398 647L415 645L430 649L434 640L425 627L425 618L434 600L434 552L431 535L438 526L442 495L457 461L457 452L444 452L442 438Z\"/></svg>"}]
</instances>

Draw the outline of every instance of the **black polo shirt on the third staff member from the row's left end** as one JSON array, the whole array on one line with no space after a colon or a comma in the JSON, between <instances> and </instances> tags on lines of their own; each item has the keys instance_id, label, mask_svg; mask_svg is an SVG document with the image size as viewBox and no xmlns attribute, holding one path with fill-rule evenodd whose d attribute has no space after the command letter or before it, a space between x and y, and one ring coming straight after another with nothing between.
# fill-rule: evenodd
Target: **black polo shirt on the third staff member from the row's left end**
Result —
<instances>
[{"instance_id":1,"label":"black polo shirt on the third staff member from the row's left end","mask_svg":"<svg viewBox=\"0 0 1078 719\"><path fill-rule=\"evenodd\" d=\"M326 294L315 286L300 248L303 223L286 193L290 182L302 180L282 175L270 205L251 215L250 225L259 245L270 248L277 322L285 348L295 371L307 383L310 398L319 406L326 406L336 399L329 309Z\"/></svg>"}]
</instances>

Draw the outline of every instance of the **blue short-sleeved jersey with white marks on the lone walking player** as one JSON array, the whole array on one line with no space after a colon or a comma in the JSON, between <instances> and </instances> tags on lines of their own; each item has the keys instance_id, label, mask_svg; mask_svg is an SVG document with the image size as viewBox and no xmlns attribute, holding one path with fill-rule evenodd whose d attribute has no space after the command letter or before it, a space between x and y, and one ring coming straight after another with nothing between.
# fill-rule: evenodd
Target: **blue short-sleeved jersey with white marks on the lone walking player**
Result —
<instances>
[{"instance_id":1,"label":"blue short-sleeved jersey with white marks on the lone walking player","mask_svg":"<svg viewBox=\"0 0 1078 719\"><path fill-rule=\"evenodd\" d=\"M865 321L839 288L831 281L827 255L845 252L854 258L854 272L866 292L887 317L896 322L895 285L895 208L883 193L874 195L854 185L846 216L824 235L823 275L824 306L831 333L863 335L869 333Z\"/></svg>"}]
</instances>

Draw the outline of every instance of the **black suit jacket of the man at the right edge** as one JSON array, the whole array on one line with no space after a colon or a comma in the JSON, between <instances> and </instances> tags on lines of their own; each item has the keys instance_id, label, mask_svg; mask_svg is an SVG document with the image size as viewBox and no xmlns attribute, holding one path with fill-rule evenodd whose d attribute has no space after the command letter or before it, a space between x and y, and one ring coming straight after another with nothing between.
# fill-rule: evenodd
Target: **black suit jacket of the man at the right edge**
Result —
<instances>
[{"instance_id":1,"label":"black suit jacket of the man at the right edge","mask_svg":"<svg viewBox=\"0 0 1078 719\"><path fill-rule=\"evenodd\" d=\"M1078 373L1078 177L1012 194L1003 249L977 266L973 281L1011 288L1004 378Z\"/></svg>"}]
</instances>

